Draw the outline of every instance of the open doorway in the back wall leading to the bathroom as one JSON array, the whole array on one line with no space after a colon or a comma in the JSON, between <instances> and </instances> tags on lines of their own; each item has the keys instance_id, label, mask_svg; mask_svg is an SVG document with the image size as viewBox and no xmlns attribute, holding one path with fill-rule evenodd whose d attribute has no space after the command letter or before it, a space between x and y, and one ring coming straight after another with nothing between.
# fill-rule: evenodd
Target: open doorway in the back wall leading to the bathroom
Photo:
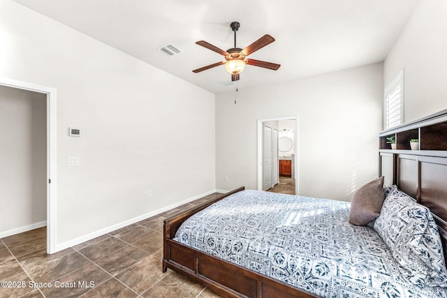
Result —
<instances>
[{"instance_id":1,"label":"open doorway in the back wall leading to the bathroom","mask_svg":"<svg viewBox=\"0 0 447 298\"><path fill-rule=\"evenodd\" d=\"M259 119L258 190L295 195L298 189L298 117Z\"/></svg>"}]
</instances>

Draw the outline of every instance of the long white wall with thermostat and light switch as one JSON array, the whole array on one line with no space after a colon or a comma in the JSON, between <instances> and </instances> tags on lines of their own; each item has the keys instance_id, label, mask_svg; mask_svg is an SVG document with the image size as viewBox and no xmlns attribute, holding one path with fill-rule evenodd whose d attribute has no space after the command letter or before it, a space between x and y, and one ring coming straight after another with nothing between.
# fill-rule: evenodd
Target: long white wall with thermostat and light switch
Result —
<instances>
[{"instance_id":1,"label":"long white wall with thermostat and light switch","mask_svg":"<svg viewBox=\"0 0 447 298\"><path fill-rule=\"evenodd\" d=\"M9 0L0 76L57 89L59 248L214 191L214 94Z\"/></svg>"}]
</instances>

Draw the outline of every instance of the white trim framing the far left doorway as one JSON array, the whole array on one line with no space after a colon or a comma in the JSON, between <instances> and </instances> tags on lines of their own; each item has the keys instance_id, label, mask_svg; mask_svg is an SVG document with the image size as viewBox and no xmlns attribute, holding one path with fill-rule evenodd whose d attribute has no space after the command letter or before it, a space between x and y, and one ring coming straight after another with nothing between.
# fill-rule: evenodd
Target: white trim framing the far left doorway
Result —
<instances>
[{"instance_id":1,"label":"white trim framing the far left doorway","mask_svg":"<svg viewBox=\"0 0 447 298\"><path fill-rule=\"evenodd\" d=\"M0 77L0 84L47 95L47 253L56 249L56 89Z\"/></svg>"}]
</instances>

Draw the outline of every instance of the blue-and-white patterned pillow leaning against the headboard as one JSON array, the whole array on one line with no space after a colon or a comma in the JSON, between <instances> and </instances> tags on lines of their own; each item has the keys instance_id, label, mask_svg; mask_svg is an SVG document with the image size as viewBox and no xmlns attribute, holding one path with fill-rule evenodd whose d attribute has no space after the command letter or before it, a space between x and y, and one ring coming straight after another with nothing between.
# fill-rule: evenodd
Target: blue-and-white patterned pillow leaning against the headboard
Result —
<instances>
[{"instance_id":1,"label":"blue-and-white patterned pillow leaning against the headboard","mask_svg":"<svg viewBox=\"0 0 447 298\"><path fill-rule=\"evenodd\" d=\"M441 239L427 207L397 188L391 188L374 229L388 245L402 275L409 281L421 286L447 288Z\"/></svg>"}]
</instances>

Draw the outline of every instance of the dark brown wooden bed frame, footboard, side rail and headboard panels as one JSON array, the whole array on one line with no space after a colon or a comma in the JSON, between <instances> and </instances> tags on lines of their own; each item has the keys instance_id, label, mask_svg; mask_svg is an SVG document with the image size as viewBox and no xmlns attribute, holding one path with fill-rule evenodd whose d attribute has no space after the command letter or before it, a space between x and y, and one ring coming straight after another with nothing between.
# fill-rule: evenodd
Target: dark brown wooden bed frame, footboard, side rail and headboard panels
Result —
<instances>
[{"instance_id":1,"label":"dark brown wooden bed frame, footboard, side rail and headboard panels","mask_svg":"<svg viewBox=\"0 0 447 298\"><path fill-rule=\"evenodd\" d=\"M442 133L447 135L447 130ZM382 175L386 184L396 184L404 193L430 208L439 226L447 260L447 151L380 149L379 176ZM186 218L243 189L237 188L164 221L163 271L173 269L224 297L316 297L173 240Z\"/></svg>"}]
</instances>

